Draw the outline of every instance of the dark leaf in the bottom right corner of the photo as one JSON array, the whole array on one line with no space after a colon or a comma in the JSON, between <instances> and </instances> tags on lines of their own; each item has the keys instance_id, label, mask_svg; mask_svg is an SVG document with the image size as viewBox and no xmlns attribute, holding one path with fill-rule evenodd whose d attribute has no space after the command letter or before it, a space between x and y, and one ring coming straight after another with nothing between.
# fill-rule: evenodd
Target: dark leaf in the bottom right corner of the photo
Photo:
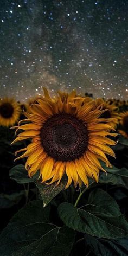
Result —
<instances>
[{"instance_id":1,"label":"dark leaf in the bottom right corner of the photo","mask_svg":"<svg viewBox=\"0 0 128 256\"><path fill-rule=\"evenodd\" d=\"M85 242L96 256L128 255L128 238L107 240L85 234Z\"/></svg>"}]
</instances>

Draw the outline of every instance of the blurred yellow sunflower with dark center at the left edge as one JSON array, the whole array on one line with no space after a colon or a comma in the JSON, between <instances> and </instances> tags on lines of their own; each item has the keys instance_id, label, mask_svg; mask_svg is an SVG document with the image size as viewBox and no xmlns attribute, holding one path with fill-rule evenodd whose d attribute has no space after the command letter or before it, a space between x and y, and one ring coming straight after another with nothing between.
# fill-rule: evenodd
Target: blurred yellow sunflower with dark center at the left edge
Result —
<instances>
[{"instance_id":1,"label":"blurred yellow sunflower with dark center at the left edge","mask_svg":"<svg viewBox=\"0 0 128 256\"><path fill-rule=\"evenodd\" d=\"M12 126L20 117L20 105L13 98L0 99L0 125Z\"/></svg>"}]
</instances>

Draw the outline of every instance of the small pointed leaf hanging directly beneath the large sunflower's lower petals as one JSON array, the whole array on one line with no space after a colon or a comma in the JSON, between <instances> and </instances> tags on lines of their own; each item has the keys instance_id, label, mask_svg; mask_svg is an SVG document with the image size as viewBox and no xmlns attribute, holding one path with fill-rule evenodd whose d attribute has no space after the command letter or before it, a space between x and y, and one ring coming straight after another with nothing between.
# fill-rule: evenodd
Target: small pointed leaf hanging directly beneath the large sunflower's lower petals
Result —
<instances>
[{"instance_id":1,"label":"small pointed leaf hanging directly beneath the large sunflower's lower petals","mask_svg":"<svg viewBox=\"0 0 128 256\"><path fill-rule=\"evenodd\" d=\"M37 181L36 183L37 188L40 191L41 197L43 199L43 206L46 207L48 203L57 195L59 194L63 189L65 189L65 186L67 184L67 178L63 177L59 185L56 185L57 182L54 182L50 185L47 185L45 183L41 183L40 181Z\"/></svg>"}]
</instances>

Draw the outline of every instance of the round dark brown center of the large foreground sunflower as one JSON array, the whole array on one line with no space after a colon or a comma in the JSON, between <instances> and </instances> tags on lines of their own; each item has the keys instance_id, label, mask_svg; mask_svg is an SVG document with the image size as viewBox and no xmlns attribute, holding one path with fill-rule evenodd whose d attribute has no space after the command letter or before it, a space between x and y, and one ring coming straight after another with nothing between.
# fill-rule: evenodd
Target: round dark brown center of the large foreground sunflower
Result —
<instances>
[{"instance_id":1,"label":"round dark brown center of the large foreground sunflower","mask_svg":"<svg viewBox=\"0 0 128 256\"><path fill-rule=\"evenodd\" d=\"M56 161L72 161L82 156L87 148L87 128L71 114L56 114L44 123L41 144Z\"/></svg>"}]
</instances>

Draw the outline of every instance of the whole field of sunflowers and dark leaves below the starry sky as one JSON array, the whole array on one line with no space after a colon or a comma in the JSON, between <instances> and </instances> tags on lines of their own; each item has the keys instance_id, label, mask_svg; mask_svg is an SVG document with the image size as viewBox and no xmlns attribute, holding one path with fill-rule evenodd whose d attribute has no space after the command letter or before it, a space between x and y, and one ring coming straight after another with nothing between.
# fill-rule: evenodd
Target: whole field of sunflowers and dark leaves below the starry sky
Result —
<instances>
[{"instance_id":1,"label":"whole field of sunflowers and dark leaves below the starry sky","mask_svg":"<svg viewBox=\"0 0 128 256\"><path fill-rule=\"evenodd\" d=\"M1 256L128 255L128 101L0 100Z\"/></svg>"}]
</instances>

